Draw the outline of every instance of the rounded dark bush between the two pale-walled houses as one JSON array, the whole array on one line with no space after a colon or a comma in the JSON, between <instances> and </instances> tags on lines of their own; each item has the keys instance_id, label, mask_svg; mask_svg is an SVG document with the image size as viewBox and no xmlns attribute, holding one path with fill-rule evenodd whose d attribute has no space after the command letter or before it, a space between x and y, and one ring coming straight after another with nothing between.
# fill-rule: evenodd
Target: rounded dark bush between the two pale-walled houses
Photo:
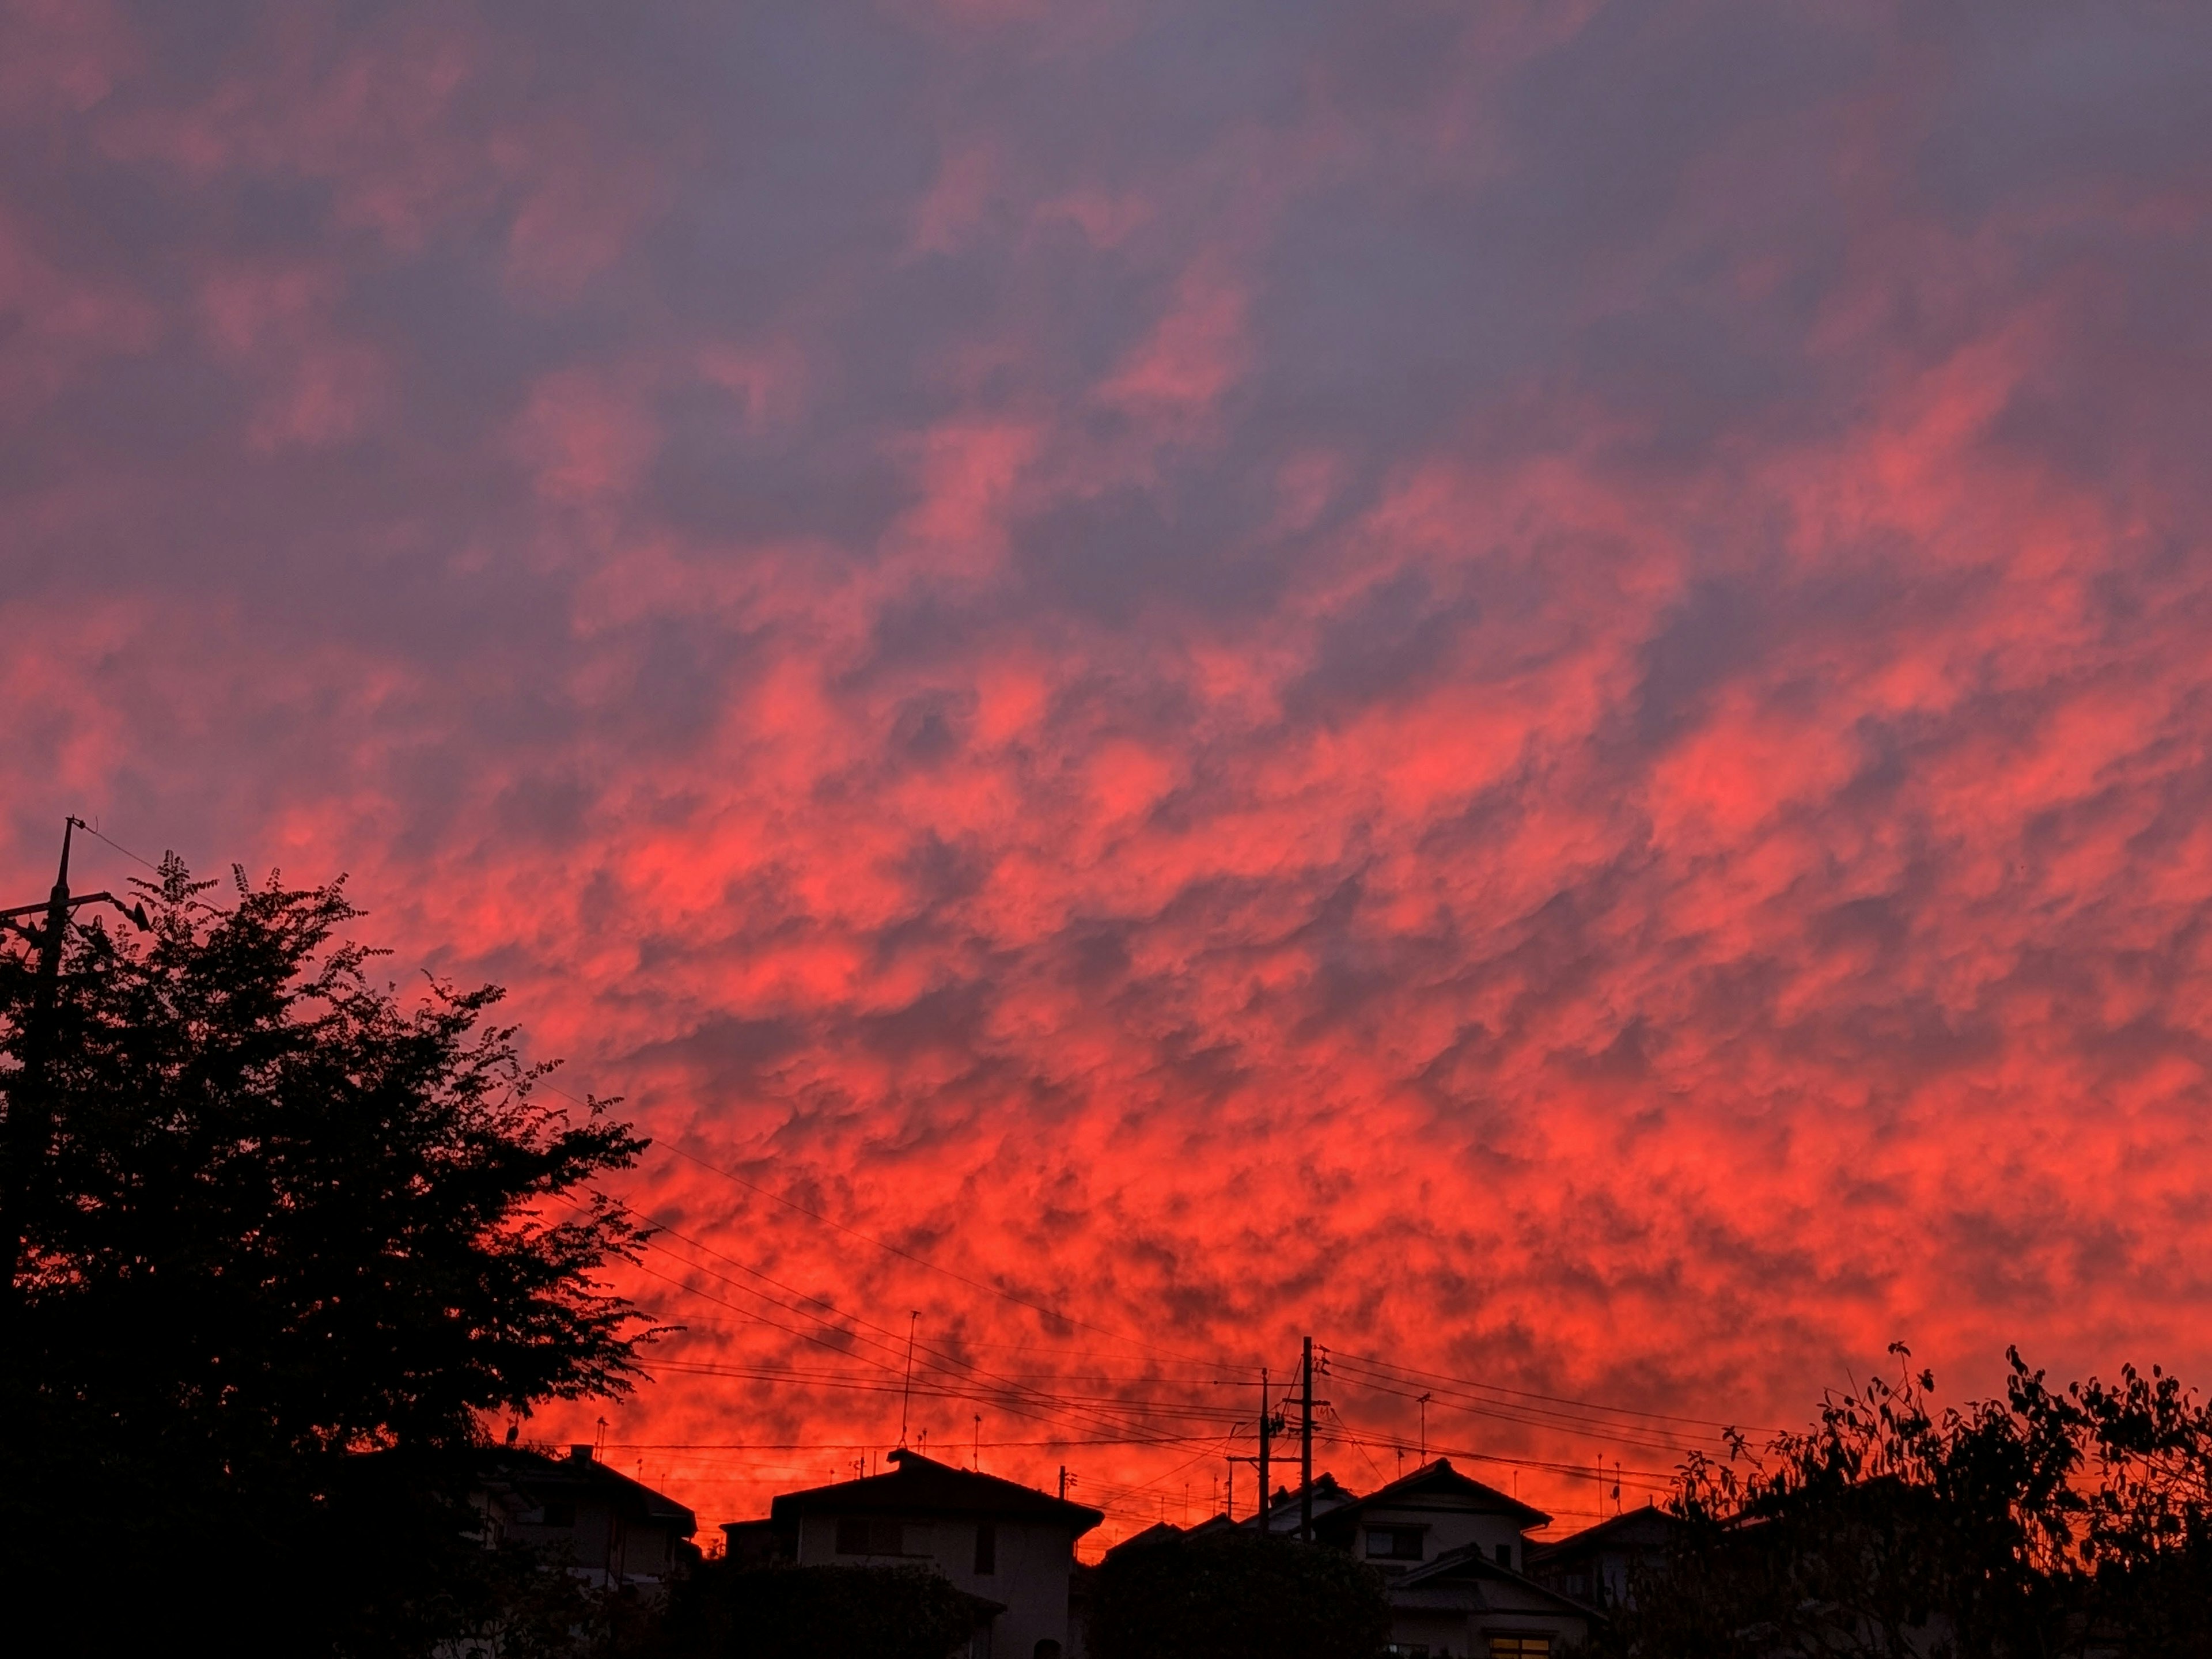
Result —
<instances>
[{"instance_id":1,"label":"rounded dark bush between the two pale-walled houses","mask_svg":"<svg viewBox=\"0 0 2212 1659\"><path fill-rule=\"evenodd\" d=\"M1371 1659L1389 1641L1383 1577L1287 1537L1161 1537L1108 1555L1093 1659Z\"/></svg>"}]
</instances>

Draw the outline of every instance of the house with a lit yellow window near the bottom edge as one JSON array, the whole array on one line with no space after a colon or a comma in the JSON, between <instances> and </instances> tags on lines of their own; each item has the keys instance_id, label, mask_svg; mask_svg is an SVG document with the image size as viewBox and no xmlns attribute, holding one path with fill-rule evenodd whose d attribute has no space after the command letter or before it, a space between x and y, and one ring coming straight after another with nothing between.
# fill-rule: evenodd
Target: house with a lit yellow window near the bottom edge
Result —
<instances>
[{"instance_id":1,"label":"house with a lit yellow window near the bottom edge","mask_svg":"<svg viewBox=\"0 0 2212 1659\"><path fill-rule=\"evenodd\" d=\"M1528 1659L1590 1632L1590 1610L1528 1577L1548 1526L1533 1504L1462 1475L1438 1458L1314 1522L1323 1544L1352 1551L1387 1577L1391 1650L1425 1659Z\"/></svg>"}]
</instances>

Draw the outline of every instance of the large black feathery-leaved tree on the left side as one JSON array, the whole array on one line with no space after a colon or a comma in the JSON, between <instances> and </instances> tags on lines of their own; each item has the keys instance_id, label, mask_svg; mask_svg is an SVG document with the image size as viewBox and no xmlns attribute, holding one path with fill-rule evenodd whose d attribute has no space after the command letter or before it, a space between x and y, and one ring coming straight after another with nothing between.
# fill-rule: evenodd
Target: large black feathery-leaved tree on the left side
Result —
<instances>
[{"instance_id":1,"label":"large black feathery-leaved tree on the left side","mask_svg":"<svg viewBox=\"0 0 2212 1659\"><path fill-rule=\"evenodd\" d=\"M495 989L374 984L341 887L142 887L148 936L73 933L20 1117L7 1557L49 1652L420 1650L549 1577L471 1542L469 1464L487 1413L628 1387L593 1272L639 1232L588 1183L644 1141L538 1102Z\"/></svg>"}]
</instances>

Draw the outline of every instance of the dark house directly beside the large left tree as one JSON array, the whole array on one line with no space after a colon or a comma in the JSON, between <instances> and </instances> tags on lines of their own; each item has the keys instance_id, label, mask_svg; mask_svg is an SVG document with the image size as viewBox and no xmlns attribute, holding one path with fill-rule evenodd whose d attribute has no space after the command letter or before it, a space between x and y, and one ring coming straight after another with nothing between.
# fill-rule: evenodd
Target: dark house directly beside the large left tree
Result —
<instances>
[{"instance_id":1,"label":"dark house directly beside the large left tree","mask_svg":"<svg viewBox=\"0 0 2212 1659\"><path fill-rule=\"evenodd\" d=\"M659 1588L699 1559L697 1517L675 1498L615 1473L591 1447L546 1458L509 1447L484 1458L478 1509L487 1542L533 1544L562 1555L595 1588Z\"/></svg>"}]
</instances>

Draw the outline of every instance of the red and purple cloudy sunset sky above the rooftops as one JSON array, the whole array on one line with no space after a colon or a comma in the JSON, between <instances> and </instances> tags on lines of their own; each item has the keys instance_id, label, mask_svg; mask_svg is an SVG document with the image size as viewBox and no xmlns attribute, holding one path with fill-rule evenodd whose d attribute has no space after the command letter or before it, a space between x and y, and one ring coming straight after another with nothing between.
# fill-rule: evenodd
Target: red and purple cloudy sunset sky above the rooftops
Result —
<instances>
[{"instance_id":1,"label":"red and purple cloudy sunset sky above the rooftops","mask_svg":"<svg viewBox=\"0 0 2212 1659\"><path fill-rule=\"evenodd\" d=\"M0 0L0 874L80 812L509 987L684 1327L529 1433L703 1524L902 1411L1197 1517L1303 1336L1318 1467L1562 1528L1893 1340L2205 1383L2208 80Z\"/></svg>"}]
</instances>

